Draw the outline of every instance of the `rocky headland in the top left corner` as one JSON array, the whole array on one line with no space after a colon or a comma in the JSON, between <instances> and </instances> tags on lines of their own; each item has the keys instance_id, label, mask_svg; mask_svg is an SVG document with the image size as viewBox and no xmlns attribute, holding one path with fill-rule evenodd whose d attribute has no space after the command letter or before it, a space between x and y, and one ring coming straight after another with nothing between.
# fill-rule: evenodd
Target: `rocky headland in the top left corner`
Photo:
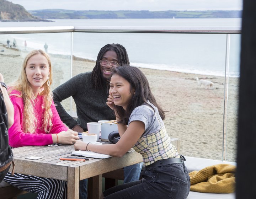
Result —
<instances>
[{"instance_id":1,"label":"rocky headland in the top left corner","mask_svg":"<svg viewBox=\"0 0 256 199\"><path fill-rule=\"evenodd\" d=\"M48 21L31 15L26 9L10 1L0 0L0 21Z\"/></svg>"}]
</instances>

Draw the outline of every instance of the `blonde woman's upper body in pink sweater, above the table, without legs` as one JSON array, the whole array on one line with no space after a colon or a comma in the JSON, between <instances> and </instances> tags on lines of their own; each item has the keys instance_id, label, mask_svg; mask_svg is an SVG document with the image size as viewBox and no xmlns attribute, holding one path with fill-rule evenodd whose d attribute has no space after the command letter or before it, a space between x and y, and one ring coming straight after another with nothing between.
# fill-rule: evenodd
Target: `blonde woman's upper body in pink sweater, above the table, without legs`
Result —
<instances>
[{"instance_id":1,"label":"blonde woman's upper body in pink sweater, above the table, without legs","mask_svg":"<svg viewBox=\"0 0 256 199\"><path fill-rule=\"evenodd\" d=\"M65 127L53 104L52 65L48 54L42 50L31 51L22 68L20 77L8 88L16 118L10 128L10 145L73 144L79 139L78 133Z\"/></svg>"}]
</instances>

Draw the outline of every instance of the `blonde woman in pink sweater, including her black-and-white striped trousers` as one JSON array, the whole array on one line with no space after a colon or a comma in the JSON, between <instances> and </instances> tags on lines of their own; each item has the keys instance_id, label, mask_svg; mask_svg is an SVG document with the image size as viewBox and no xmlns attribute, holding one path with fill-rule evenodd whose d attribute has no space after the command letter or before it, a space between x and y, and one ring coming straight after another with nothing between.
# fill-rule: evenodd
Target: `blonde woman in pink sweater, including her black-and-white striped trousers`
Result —
<instances>
[{"instance_id":1,"label":"blonde woman in pink sweater, including her black-and-white striped trousers","mask_svg":"<svg viewBox=\"0 0 256 199\"><path fill-rule=\"evenodd\" d=\"M52 65L47 53L33 50L23 61L21 75L8 88L14 105L14 124L9 129L12 147L44 146L53 143L73 144L78 133L66 127L53 104L50 85ZM38 199L66 198L66 183L56 179L7 173L5 182L28 192Z\"/></svg>"}]
</instances>

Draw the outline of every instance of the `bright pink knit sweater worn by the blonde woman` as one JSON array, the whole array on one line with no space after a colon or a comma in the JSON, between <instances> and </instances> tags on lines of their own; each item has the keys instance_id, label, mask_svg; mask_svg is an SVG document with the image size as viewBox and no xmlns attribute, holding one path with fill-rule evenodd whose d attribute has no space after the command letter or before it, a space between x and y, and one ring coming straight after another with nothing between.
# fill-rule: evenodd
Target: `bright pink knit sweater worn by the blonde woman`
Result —
<instances>
[{"instance_id":1,"label":"bright pink knit sweater worn by the blonde woman","mask_svg":"<svg viewBox=\"0 0 256 199\"><path fill-rule=\"evenodd\" d=\"M17 90L13 90L11 94L18 94L20 92ZM60 133L61 131L68 130L65 124L60 120L59 114L52 103L50 107L52 109L53 117L52 117L52 129L49 133L46 133L42 128L42 118L43 118L43 96L37 96L34 99L34 115L37 118L36 123L36 132L24 133L22 131L23 124L23 99L17 96L11 96L12 104L14 105L14 124L8 130L9 133L9 144L12 147L20 147L20 146L44 146L48 144L53 144L52 133Z\"/></svg>"}]
</instances>

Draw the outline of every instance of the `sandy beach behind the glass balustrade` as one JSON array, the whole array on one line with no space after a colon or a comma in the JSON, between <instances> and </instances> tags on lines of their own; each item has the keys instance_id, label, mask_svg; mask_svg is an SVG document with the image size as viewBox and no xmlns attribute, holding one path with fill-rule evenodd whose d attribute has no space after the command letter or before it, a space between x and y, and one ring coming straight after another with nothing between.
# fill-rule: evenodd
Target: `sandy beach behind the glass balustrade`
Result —
<instances>
[{"instance_id":1,"label":"sandy beach behind the glass balustrade","mask_svg":"<svg viewBox=\"0 0 256 199\"><path fill-rule=\"evenodd\" d=\"M28 51L6 48L3 44L0 44L0 50L4 50L0 52L0 72L8 85L17 79ZM54 72L52 87L55 88L70 78L71 59L64 55L50 54L50 57ZM91 71L94 66L94 61L74 58L73 76ZM224 159L236 161L238 77L226 79L228 101L225 101L223 124L224 77L144 68L141 70L147 76L156 100L168 111L164 120L165 127L170 137L181 140L182 155L221 160L224 136ZM196 77L212 81L213 86L209 89L198 87ZM69 102L69 99L64 102L67 107Z\"/></svg>"}]
</instances>

